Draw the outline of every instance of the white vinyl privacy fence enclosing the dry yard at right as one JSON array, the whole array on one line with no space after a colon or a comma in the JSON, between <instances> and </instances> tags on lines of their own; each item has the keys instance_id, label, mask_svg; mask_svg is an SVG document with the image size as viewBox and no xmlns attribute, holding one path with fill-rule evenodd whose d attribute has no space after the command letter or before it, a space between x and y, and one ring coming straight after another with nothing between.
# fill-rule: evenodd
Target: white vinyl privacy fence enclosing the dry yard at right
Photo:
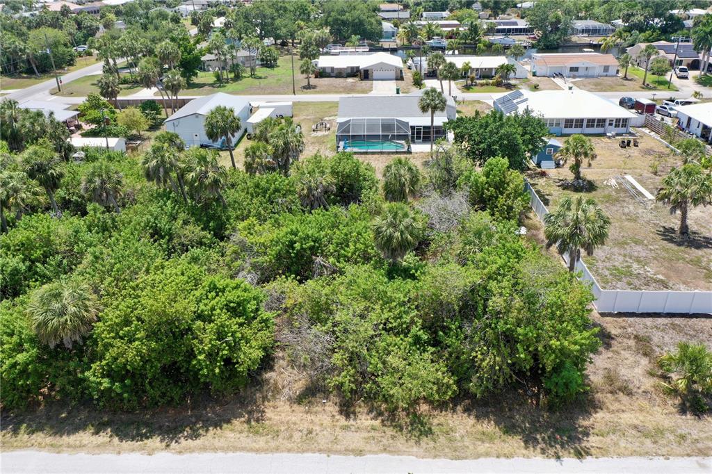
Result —
<instances>
[{"instance_id":1,"label":"white vinyl privacy fence enclosing the dry yard at right","mask_svg":"<svg viewBox=\"0 0 712 474\"><path fill-rule=\"evenodd\" d=\"M532 209L544 221L549 213L536 192L525 180ZM568 255L562 256L566 263ZM588 270L583 260L576 263L580 280L591 283L595 297L593 304L599 312L660 312L660 313L703 313L712 314L712 291L649 291L649 290L604 290Z\"/></svg>"}]
</instances>

